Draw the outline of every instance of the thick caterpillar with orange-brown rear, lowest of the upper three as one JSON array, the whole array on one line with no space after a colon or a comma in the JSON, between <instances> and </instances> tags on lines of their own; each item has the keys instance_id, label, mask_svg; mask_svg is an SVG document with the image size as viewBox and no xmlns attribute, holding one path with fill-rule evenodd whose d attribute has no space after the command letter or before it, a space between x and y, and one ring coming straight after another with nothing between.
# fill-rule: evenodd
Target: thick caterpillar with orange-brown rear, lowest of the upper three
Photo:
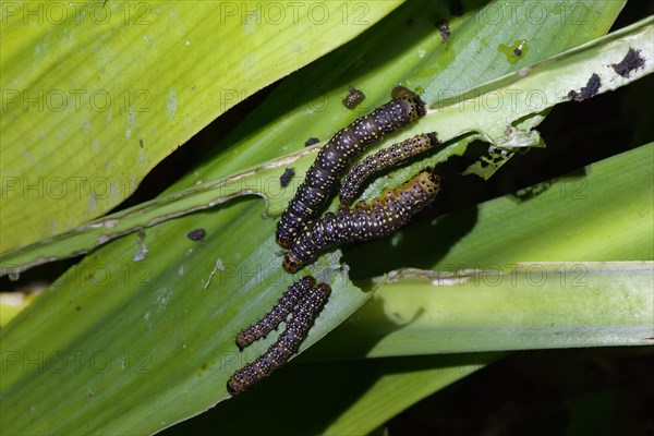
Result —
<instances>
[{"instance_id":1,"label":"thick caterpillar with orange-brown rear, lowest of the upper three","mask_svg":"<svg viewBox=\"0 0 654 436\"><path fill-rule=\"evenodd\" d=\"M295 272L327 247L396 231L434 201L439 185L439 177L427 168L396 190L385 190L371 204L361 202L353 209L343 207L336 214L327 213L323 218L311 220L287 251L283 269Z\"/></svg>"}]
</instances>

